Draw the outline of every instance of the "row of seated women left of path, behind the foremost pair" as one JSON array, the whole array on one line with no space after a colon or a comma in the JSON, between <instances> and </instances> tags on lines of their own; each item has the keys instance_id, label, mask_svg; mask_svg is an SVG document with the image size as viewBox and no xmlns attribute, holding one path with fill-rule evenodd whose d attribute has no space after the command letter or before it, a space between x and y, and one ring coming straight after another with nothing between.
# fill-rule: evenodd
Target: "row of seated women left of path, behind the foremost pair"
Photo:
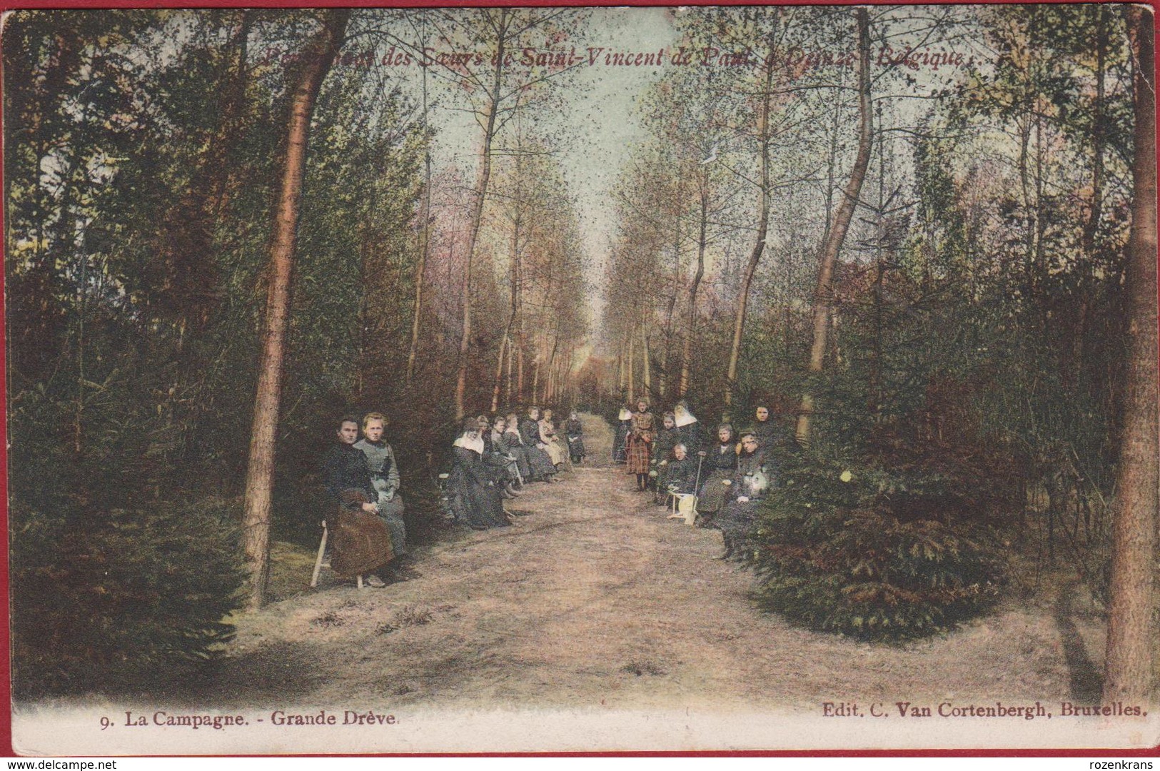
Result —
<instances>
[{"instance_id":1,"label":"row of seated women left of path, behind the foremost pair","mask_svg":"<svg viewBox=\"0 0 1160 771\"><path fill-rule=\"evenodd\" d=\"M583 427L575 412L563 425L563 436L545 409L529 407L517 415L470 417L452 445L447 501L451 516L477 530L514 523L503 499L520 495L529 482L556 482L568 463L583 460Z\"/></svg>"}]
</instances>

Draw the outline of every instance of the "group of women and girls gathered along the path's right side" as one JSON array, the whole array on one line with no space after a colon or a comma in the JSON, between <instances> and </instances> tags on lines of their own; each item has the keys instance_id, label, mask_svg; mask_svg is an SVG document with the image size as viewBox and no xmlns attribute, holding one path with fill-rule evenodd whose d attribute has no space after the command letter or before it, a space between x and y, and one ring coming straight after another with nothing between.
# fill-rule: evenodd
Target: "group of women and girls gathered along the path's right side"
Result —
<instances>
[{"instance_id":1,"label":"group of women and girls gathered along the path's right side","mask_svg":"<svg viewBox=\"0 0 1160 771\"><path fill-rule=\"evenodd\" d=\"M699 423L683 401L653 430L648 405L640 400L635 412L621 410L614 459L636 474L638 489L652 482L659 505L672 495L695 495L698 523L722 531L720 559L728 559L740 553L759 502L775 481L774 452L792 446L788 431L770 420L768 407L757 407L754 419L740 436L730 423L722 423L715 439L703 441Z\"/></svg>"}]
</instances>

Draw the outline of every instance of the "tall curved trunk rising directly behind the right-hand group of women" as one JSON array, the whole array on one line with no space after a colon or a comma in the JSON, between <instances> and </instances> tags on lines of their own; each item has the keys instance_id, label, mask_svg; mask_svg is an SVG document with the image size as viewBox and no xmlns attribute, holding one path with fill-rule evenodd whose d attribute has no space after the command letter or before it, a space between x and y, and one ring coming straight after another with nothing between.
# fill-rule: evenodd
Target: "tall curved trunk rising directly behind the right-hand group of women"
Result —
<instances>
[{"instance_id":1,"label":"tall curved trunk rising directly behind the right-hand group of women","mask_svg":"<svg viewBox=\"0 0 1160 771\"><path fill-rule=\"evenodd\" d=\"M857 206L858 194L862 191L862 181L865 179L867 168L870 166L870 146L873 138L873 117L870 103L870 15L865 8L854 10L858 23L858 154L854 160L854 169L850 172L850 180L846 184L846 191L841 203L838 204L838 212L834 214L834 226L826 237L826 242L821 248L821 261L818 268L818 286L813 296L813 346L810 349L811 373L821 372L826 357L826 332L829 327L829 304L833 299L834 264L838 262L838 254L842 249L846 240L846 231L849 230L850 220L854 218L854 210ZM809 391L802 394L802 403L798 407L797 441L802 444L810 442L810 417L813 414L813 394Z\"/></svg>"}]
</instances>

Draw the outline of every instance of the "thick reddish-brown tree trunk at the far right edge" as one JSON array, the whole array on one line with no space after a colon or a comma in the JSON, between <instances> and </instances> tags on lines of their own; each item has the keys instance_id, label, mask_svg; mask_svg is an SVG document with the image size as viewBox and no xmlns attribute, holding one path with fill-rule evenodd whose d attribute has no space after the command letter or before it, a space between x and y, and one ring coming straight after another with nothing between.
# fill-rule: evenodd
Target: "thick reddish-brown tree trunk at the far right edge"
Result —
<instances>
[{"instance_id":1,"label":"thick reddish-brown tree trunk at the far right edge","mask_svg":"<svg viewBox=\"0 0 1160 771\"><path fill-rule=\"evenodd\" d=\"M1116 475L1103 701L1148 704L1153 696L1157 508L1157 154L1155 38L1152 14L1124 9L1134 60L1132 230L1128 247L1128 379Z\"/></svg>"}]
</instances>

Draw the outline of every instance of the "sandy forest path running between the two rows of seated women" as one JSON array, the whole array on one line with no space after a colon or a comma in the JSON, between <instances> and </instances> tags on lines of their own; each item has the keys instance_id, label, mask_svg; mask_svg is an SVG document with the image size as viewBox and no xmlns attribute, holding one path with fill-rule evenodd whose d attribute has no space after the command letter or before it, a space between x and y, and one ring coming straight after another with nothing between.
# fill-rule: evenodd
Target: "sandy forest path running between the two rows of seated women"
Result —
<instances>
[{"instance_id":1,"label":"sandy forest path running between the two rows of seated women","mask_svg":"<svg viewBox=\"0 0 1160 771\"><path fill-rule=\"evenodd\" d=\"M877 646L791 627L716 561L717 531L667 521L609 464L529 485L519 526L462 531L385 589L331 581L239 619L200 694L217 705L773 710L824 701L1087 700L1096 618L1021 599L945 637ZM197 689L201 691L201 689Z\"/></svg>"}]
</instances>

